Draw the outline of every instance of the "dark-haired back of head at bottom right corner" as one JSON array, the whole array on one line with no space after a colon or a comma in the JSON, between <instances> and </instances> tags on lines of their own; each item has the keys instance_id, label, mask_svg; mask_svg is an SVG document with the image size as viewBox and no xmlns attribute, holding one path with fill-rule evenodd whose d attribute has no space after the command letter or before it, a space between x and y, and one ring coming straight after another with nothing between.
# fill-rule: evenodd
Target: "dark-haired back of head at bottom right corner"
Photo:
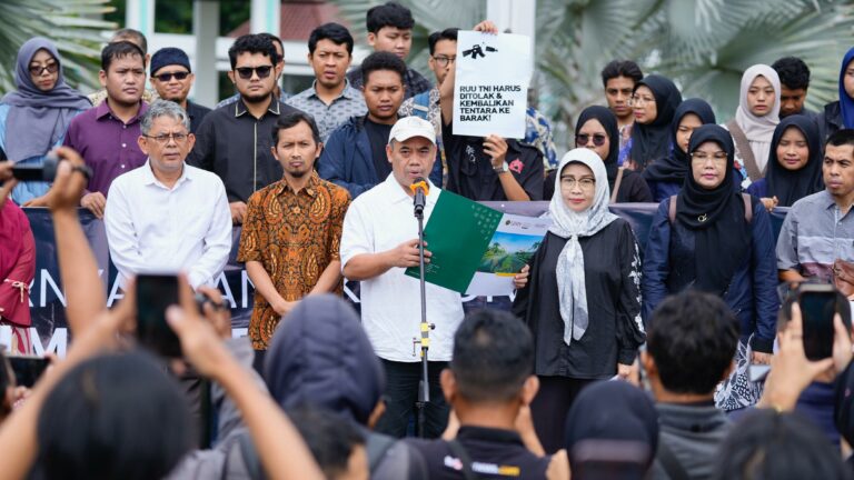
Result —
<instances>
[{"instance_id":1,"label":"dark-haired back of head at bottom right corner","mask_svg":"<svg viewBox=\"0 0 854 480\"><path fill-rule=\"evenodd\" d=\"M840 452L797 413L749 412L732 430L717 456L719 480L850 479Z\"/></svg>"}]
</instances>

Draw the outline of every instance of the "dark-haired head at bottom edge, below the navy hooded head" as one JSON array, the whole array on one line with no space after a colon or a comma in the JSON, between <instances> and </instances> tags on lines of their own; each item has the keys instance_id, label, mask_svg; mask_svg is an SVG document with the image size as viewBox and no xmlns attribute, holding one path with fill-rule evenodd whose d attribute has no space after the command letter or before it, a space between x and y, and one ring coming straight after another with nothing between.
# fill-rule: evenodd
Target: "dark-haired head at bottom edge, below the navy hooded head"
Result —
<instances>
[{"instance_id":1,"label":"dark-haired head at bottom edge, below the navy hooded head","mask_svg":"<svg viewBox=\"0 0 854 480\"><path fill-rule=\"evenodd\" d=\"M367 479L365 438L348 419L310 406L288 410L311 456L328 480Z\"/></svg>"}]
</instances>

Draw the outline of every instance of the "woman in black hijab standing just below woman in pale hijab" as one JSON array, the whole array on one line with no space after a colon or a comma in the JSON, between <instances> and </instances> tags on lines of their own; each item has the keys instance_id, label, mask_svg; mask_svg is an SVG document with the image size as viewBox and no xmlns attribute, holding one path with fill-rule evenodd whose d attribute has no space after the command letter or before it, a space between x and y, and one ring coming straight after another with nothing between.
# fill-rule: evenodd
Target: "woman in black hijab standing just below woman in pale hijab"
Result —
<instances>
[{"instance_id":1,"label":"woman in black hijab standing just below woman in pale hijab","mask_svg":"<svg viewBox=\"0 0 854 480\"><path fill-rule=\"evenodd\" d=\"M820 138L812 119L802 114L783 119L771 140L768 173L751 183L747 192L761 198L771 211L824 190Z\"/></svg>"}]
</instances>

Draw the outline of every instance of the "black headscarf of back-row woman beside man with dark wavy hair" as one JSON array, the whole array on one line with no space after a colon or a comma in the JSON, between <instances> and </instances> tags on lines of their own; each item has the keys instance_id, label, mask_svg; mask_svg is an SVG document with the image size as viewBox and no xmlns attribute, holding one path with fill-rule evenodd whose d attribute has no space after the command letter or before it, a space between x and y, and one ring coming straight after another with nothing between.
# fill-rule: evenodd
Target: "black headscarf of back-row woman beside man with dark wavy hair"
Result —
<instances>
[{"instance_id":1,"label":"black headscarf of back-row woman beside man with dark wavy hair","mask_svg":"<svg viewBox=\"0 0 854 480\"><path fill-rule=\"evenodd\" d=\"M637 92L642 86L652 90L657 110L652 123L635 122L632 127L632 151L628 157L643 170L653 160L669 154L669 129L676 108L682 103L682 93L669 79L657 74L644 77L635 83L634 91Z\"/></svg>"}]
</instances>

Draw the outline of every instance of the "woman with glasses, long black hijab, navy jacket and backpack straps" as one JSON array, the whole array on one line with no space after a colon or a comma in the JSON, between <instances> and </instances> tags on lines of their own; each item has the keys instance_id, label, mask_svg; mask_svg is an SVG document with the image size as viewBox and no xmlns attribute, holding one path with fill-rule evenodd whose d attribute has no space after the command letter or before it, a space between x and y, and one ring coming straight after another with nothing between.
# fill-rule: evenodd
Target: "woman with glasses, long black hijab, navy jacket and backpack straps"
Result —
<instances>
[{"instance_id":1,"label":"woman with glasses, long black hijab, navy jacket and backpack straps","mask_svg":"<svg viewBox=\"0 0 854 480\"><path fill-rule=\"evenodd\" d=\"M771 219L757 198L735 190L734 151L723 127L694 130L691 169L679 193L658 206L643 274L647 321L666 296L685 289L719 296L739 319L738 369L715 397L725 410L758 400L758 387L743 373L751 360L771 361L779 307Z\"/></svg>"}]
</instances>

